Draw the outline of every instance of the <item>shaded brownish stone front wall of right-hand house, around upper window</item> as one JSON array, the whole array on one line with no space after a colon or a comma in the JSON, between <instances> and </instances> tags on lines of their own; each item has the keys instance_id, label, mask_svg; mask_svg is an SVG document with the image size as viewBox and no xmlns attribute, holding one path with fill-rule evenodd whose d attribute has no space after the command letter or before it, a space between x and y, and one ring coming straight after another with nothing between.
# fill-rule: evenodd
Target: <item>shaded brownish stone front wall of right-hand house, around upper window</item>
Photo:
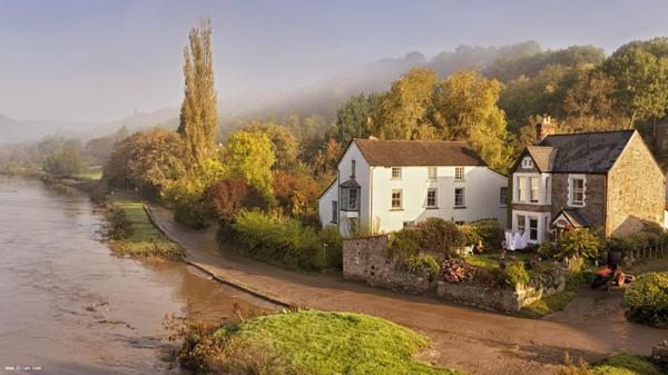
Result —
<instances>
[{"instance_id":1,"label":"shaded brownish stone front wall of right-hand house, around upper window","mask_svg":"<svg viewBox=\"0 0 668 375\"><path fill-rule=\"evenodd\" d=\"M606 224L606 175L584 175L584 206L569 206L569 176L553 174L552 218L564 208L577 208L592 229L603 229Z\"/></svg>"}]
</instances>

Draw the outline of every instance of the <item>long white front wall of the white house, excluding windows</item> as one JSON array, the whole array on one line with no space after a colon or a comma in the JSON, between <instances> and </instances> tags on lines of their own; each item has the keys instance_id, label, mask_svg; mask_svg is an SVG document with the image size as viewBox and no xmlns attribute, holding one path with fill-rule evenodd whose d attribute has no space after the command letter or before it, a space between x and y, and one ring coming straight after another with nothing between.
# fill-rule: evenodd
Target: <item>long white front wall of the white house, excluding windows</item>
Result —
<instances>
[{"instance_id":1,"label":"long white front wall of the white house, excluding windows","mask_svg":"<svg viewBox=\"0 0 668 375\"><path fill-rule=\"evenodd\" d=\"M403 228L404 221L440 217L453 221L497 218L505 226L505 205L500 189L508 179L487 167L464 167L464 179L454 178L455 167L438 167L436 180L428 178L428 167L402 167L402 178L392 178L392 168L372 167L372 223L380 231ZM464 207L454 207L454 189L464 188ZM438 189L438 208L426 207L428 189ZM392 209L392 190L402 189L402 209Z\"/></svg>"}]
</instances>

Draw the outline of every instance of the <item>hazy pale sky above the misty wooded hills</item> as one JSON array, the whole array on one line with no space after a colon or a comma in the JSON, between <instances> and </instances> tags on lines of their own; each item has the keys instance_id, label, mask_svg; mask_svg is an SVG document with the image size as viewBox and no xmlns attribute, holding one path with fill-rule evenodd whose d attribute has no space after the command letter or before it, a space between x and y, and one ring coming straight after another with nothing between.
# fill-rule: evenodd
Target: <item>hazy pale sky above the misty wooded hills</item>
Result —
<instances>
[{"instance_id":1,"label":"hazy pale sky above the misty wooded hills","mask_svg":"<svg viewBox=\"0 0 668 375\"><path fill-rule=\"evenodd\" d=\"M536 40L611 52L668 36L658 0L0 0L0 114L110 121L177 107L183 49L204 16L222 99L282 95L411 51Z\"/></svg>"}]
</instances>

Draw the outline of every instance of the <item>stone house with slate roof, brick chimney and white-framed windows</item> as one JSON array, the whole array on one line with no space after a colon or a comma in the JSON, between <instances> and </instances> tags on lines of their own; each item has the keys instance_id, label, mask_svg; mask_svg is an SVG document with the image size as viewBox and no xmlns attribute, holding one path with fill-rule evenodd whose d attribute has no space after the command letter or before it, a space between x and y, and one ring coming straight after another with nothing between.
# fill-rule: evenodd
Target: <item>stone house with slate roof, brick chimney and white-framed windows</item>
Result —
<instances>
[{"instance_id":1,"label":"stone house with slate roof, brick chimney and white-framed windows","mask_svg":"<svg viewBox=\"0 0 668 375\"><path fill-rule=\"evenodd\" d=\"M540 244L569 228L610 237L664 225L666 178L636 130L558 135L548 120L537 134L510 171L513 231Z\"/></svg>"}]
</instances>

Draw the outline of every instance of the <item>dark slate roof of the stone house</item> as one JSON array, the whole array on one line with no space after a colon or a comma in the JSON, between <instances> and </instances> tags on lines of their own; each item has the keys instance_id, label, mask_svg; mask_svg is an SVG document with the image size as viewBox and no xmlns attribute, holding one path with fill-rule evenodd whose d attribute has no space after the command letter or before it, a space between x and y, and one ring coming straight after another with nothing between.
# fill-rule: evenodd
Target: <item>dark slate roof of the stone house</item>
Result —
<instances>
[{"instance_id":1,"label":"dark slate roof of the stone house","mask_svg":"<svg viewBox=\"0 0 668 375\"><path fill-rule=\"evenodd\" d=\"M527 150L541 171L606 174L635 131L550 135L537 146L527 147Z\"/></svg>"}]
</instances>

